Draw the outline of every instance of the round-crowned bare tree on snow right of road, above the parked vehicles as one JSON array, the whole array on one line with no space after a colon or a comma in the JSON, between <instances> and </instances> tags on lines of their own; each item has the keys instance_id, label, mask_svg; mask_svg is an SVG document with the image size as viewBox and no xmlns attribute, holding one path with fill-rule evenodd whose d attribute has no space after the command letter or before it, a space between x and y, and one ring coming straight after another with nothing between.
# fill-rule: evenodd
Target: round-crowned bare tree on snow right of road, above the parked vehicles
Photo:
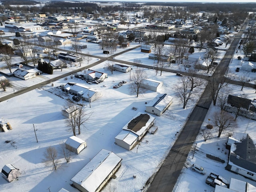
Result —
<instances>
[{"instance_id":1,"label":"round-crowned bare tree on snow right of road, above the parked vehicles","mask_svg":"<svg viewBox=\"0 0 256 192\"><path fill-rule=\"evenodd\" d=\"M213 122L214 125L218 127L218 137L220 137L222 131L236 126L236 122L230 113L222 111L222 112L215 112L213 114Z\"/></svg>"}]
</instances>

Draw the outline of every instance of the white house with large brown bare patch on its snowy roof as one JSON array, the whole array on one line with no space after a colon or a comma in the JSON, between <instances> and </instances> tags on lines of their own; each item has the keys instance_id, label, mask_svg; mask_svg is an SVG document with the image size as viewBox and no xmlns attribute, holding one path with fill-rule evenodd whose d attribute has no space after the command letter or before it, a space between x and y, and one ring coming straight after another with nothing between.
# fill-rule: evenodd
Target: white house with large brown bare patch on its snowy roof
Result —
<instances>
[{"instance_id":1,"label":"white house with large brown bare patch on its snowy roof","mask_svg":"<svg viewBox=\"0 0 256 192\"><path fill-rule=\"evenodd\" d=\"M147 113L138 113L128 122L115 137L115 143L122 148L131 150L154 124L155 118Z\"/></svg>"}]
</instances>

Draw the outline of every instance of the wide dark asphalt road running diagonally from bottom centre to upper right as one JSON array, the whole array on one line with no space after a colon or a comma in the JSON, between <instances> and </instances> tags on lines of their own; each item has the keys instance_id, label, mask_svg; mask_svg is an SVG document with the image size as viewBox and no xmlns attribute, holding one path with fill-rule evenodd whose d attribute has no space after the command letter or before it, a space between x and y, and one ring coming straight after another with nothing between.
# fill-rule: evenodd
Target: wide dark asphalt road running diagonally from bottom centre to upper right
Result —
<instances>
[{"instance_id":1,"label":"wide dark asphalt road running diagonally from bottom centre to upper right","mask_svg":"<svg viewBox=\"0 0 256 192\"><path fill-rule=\"evenodd\" d=\"M214 75L225 74L241 35L242 30L234 38ZM211 103L212 97L208 84L147 192L171 192L173 190Z\"/></svg>"}]
</instances>

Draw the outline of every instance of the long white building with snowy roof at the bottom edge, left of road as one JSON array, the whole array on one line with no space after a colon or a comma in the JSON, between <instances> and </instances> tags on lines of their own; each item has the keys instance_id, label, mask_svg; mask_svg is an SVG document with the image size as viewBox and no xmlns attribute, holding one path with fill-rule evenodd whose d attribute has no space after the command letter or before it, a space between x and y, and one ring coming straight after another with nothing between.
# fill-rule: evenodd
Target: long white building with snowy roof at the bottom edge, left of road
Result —
<instances>
[{"instance_id":1,"label":"long white building with snowy roof at the bottom edge, left of road","mask_svg":"<svg viewBox=\"0 0 256 192\"><path fill-rule=\"evenodd\" d=\"M122 158L102 149L72 179L82 192L99 192L121 166Z\"/></svg>"}]
</instances>

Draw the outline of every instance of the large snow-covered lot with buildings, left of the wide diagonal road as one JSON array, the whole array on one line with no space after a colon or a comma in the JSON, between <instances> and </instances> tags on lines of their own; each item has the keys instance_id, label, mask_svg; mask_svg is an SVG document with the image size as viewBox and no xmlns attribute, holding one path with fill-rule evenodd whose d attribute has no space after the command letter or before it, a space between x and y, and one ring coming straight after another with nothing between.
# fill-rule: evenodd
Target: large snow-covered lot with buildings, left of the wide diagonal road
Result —
<instances>
[{"instance_id":1,"label":"large snow-covered lot with buildings, left of the wide diagonal road","mask_svg":"<svg viewBox=\"0 0 256 192\"><path fill-rule=\"evenodd\" d=\"M109 183L111 187L116 188L116 191L139 191L148 178L156 172L175 141L176 132L179 132L186 122L186 117L190 114L194 103L191 102L186 109L182 109L178 99L175 98L173 84L179 79L176 74L163 72L162 76L159 74L156 76L153 70L146 70L148 78L162 81L164 86L160 92L147 91L136 98L128 89L130 74L116 71L110 74L105 71L104 66L102 63L93 68L108 73L108 78L100 84L89 85L80 79L68 77L68 80L54 82L54 87L44 86L0 103L1 109L8 109L4 110L1 117L10 122L13 128L0 134L2 141L0 167L10 163L22 172L19 179L12 183L0 179L3 190L44 191L51 187L51 191L58 191L63 187L76 192L78 190L70 186L70 179L102 148L113 151L123 159L122 166L116 173L117 178ZM113 89L112 87L121 80L128 82L118 89ZM79 155L73 154L68 164L61 158L60 168L53 171L52 167L45 166L42 162L43 152L48 146L58 148L60 143L72 136L72 133L67 131L61 113L65 99L71 99L71 95L67 96L56 88L67 82L79 82L102 90L104 94L91 103L92 108L88 106L87 110L92 111L93 116L85 124L82 134L78 136L86 140L87 148ZM145 102L149 102L159 93L169 94L174 97L174 102L161 117L156 117L158 131L154 135L146 134L138 147L138 153L137 146L127 151L114 144L114 138L122 127L138 112L144 112ZM138 110L132 110L132 107ZM14 146L5 143L6 140L14 142ZM135 179L134 175L136 175ZM108 191L108 187L103 191Z\"/></svg>"}]
</instances>

